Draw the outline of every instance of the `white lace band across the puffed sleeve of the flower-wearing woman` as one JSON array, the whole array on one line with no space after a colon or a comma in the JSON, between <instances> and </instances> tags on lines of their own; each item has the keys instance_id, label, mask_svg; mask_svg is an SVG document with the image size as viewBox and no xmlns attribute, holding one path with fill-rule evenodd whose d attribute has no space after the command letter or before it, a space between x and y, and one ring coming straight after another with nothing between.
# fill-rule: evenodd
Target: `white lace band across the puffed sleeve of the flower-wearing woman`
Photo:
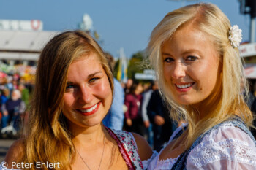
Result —
<instances>
[{"instance_id":1,"label":"white lace band across the puffed sleeve of the flower-wearing woman","mask_svg":"<svg viewBox=\"0 0 256 170\"><path fill-rule=\"evenodd\" d=\"M221 160L238 161L256 166L256 153L251 150L248 143L239 139L225 139L219 142L210 140L199 144L190 155L189 161L198 168Z\"/></svg>"}]
</instances>

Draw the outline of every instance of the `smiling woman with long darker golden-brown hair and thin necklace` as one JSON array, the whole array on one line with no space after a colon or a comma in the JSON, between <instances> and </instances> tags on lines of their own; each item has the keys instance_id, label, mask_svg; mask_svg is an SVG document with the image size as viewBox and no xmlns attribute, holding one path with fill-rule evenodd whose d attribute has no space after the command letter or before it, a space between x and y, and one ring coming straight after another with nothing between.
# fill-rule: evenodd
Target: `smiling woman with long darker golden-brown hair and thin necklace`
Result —
<instances>
[{"instance_id":1,"label":"smiling woman with long darker golden-brown hair and thin necklace","mask_svg":"<svg viewBox=\"0 0 256 170\"><path fill-rule=\"evenodd\" d=\"M7 153L7 168L143 169L152 154L146 140L102 124L112 100L113 74L97 42L83 31L53 37L39 57L29 123Z\"/></svg>"}]
</instances>

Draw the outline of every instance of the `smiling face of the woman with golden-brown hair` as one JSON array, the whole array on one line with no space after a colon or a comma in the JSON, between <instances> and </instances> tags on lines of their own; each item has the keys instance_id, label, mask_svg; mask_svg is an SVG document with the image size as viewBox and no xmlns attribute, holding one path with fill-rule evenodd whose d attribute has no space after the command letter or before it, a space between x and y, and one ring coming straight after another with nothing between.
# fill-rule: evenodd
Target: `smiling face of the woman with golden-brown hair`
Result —
<instances>
[{"instance_id":1,"label":"smiling face of the woman with golden-brown hair","mask_svg":"<svg viewBox=\"0 0 256 170\"><path fill-rule=\"evenodd\" d=\"M112 102L108 76L97 54L91 53L73 61L67 73L62 112L69 126L99 125Z\"/></svg>"}]
</instances>

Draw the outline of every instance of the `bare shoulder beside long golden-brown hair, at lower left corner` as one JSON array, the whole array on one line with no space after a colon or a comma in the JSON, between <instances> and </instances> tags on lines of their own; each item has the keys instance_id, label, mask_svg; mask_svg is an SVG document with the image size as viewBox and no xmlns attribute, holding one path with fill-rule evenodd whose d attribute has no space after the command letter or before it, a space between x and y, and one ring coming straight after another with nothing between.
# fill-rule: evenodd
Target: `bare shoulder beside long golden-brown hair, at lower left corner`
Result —
<instances>
[{"instance_id":1,"label":"bare shoulder beside long golden-brown hair, at lower left corner","mask_svg":"<svg viewBox=\"0 0 256 170\"><path fill-rule=\"evenodd\" d=\"M12 143L10 146L4 161L11 165L12 162L20 161L20 158L23 157L24 154L24 143L23 139L18 139Z\"/></svg>"}]
</instances>

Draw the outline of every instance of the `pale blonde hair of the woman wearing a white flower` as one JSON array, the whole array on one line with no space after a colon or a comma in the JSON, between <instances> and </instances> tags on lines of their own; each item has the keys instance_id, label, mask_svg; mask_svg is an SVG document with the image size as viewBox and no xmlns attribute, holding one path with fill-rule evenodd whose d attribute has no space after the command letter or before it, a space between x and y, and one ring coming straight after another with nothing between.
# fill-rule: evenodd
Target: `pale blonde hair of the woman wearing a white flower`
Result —
<instances>
[{"instance_id":1,"label":"pale blonde hair of the woman wearing a white flower","mask_svg":"<svg viewBox=\"0 0 256 170\"><path fill-rule=\"evenodd\" d=\"M220 83L206 101L211 104L211 108L208 108L208 115L199 121L197 109L176 103L163 76L162 42L170 39L178 29L190 24L208 35L219 54L222 67L219 74ZM241 96L241 82L244 82L247 93L248 85L238 49L233 48L228 39L230 27L230 21L216 5L199 3L167 13L151 33L147 47L149 60L156 71L162 96L171 106L171 117L176 121L184 119L189 123L187 147L191 146L200 134L232 117L241 117L246 125L252 126L252 112Z\"/></svg>"}]
</instances>

